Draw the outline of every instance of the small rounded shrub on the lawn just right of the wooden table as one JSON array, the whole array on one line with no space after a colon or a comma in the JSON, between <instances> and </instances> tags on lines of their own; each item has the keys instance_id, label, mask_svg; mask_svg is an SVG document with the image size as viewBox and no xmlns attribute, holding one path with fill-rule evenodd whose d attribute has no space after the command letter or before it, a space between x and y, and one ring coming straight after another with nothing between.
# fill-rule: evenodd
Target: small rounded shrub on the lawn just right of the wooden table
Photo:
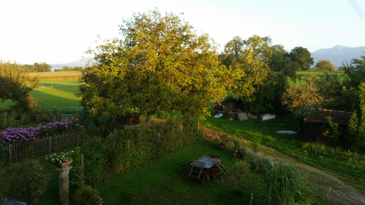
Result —
<instances>
[{"instance_id":1,"label":"small rounded shrub on the lawn just right of the wooden table","mask_svg":"<svg viewBox=\"0 0 365 205\"><path fill-rule=\"evenodd\" d=\"M246 187L245 182L252 177L250 164L246 160L238 160L232 167L233 175L238 181L238 190L242 193Z\"/></svg>"}]
</instances>

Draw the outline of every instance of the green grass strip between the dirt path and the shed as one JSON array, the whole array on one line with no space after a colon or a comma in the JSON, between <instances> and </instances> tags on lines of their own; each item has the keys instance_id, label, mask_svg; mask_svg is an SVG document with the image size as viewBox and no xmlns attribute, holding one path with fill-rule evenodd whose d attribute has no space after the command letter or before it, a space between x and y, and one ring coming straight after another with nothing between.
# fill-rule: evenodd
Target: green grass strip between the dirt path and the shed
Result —
<instances>
[{"instance_id":1,"label":"green grass strip between the dirt path and the shed","mask_svg":"<svg viewBox=\"0 0 365 205\"><path fill-rule=\"evenodd\" d=\"M276 119L268 121L254 120L242 122L207 117L207 120L203 121L202 125L207 128L236 134L247 140L260 140L262 144L292 156L300 162L335 175L346 183L356 186L362 193L365 193L365 164L358 165L338 160L335 156L318 155L307 151L303 147L305 141L299 139L297 135L276 133L279 130L296 131L297 120L292 115L277 116Z\"/></svg>"}]
</instances>

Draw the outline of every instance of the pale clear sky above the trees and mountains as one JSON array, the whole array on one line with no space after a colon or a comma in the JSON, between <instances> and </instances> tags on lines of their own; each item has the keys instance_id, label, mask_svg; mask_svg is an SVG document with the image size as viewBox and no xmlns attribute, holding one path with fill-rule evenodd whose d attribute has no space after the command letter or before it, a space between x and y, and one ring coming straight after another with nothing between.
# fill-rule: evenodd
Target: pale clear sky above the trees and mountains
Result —
<instances>
[{"instance_id":1,"label":"pale clear sky above the trees and mountains","mask_svg":"<svg viewBox=\"0 0 365 205\"><path fill-rule=\"evenodd\" d=\"M95 48L97 35L121 37L134 12L181 13L218 51L234 36L270 36L288 51L365 46L365 0L0 1L0 58L18 63L68 63ZM100 42L99 42L100 43Z\"/></svg>"}]
</instances>

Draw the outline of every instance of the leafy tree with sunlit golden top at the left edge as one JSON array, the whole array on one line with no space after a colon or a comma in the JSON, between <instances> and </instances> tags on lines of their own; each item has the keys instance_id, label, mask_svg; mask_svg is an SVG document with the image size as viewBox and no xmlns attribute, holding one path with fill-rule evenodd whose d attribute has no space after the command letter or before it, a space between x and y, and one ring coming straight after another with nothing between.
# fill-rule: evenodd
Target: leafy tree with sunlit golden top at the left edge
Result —
<instances>
[{"instance_id":1,"label":"leafy tree with sunlit golden top at the left edge","mask_svg":"<svg viewBox=\"0 0 365 205\"><path fill-rule=\"evenodd\" d=\"M0 60L0 101L11 100L19 109L28 109L32 104L28 92L37 83L37 77L30 78L23 66Z\"/></svg>"}]
</instances>

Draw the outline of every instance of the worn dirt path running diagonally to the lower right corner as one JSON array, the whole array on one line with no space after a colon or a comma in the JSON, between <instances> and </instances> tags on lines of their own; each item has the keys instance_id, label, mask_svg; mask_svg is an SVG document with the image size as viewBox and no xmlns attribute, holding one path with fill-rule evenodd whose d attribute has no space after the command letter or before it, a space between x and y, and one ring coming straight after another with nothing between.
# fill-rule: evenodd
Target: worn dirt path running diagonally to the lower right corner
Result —
<instances>
[{"instance_id":1,"label":"worn dirt path running diagonally to the lower right corner","mask_svg":"<svg viewBox=\"0 0 365 205\"><path fill-rule=\"evenodd\" d=\"M221 136L218 131L207 128L203 128L203 130L204 136L208 139L219 139L219 136ZM243 140L246 144L251 144L251 141L249 140L241 140ZM261 151L256 153L254 153L249 147L245 148L249 154L258 158L268 158L285 164L294 165L306 175L308 181L313 183L312 186L317 187L320 191L322 191L322 193L327 193L329 187L331 187L331 192L328 196L329 202L345 205L365 205L364 194L356 188L346 185L345 182L333 175L327 174L307 164L298 162L292 157L284 155L281 152L264 145L261 145Z\"/></svg>"}]
</instances>

